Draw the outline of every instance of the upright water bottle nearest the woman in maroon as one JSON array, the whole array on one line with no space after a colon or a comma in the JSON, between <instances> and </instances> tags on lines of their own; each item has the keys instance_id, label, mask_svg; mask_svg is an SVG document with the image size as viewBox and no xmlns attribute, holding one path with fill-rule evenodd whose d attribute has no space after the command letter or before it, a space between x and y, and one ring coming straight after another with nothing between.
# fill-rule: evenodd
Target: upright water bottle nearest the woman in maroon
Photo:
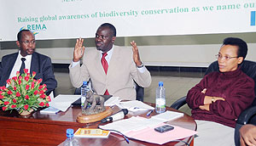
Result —
<instances>
[{"instance_id":1,"label":"upright water bottle nearest the woman in maroon","mask_svg":"<svg viewBox=\"0 0 256 146\"><path fill-rule=\"evenodd\" d=\"M155 112L163 113L165 111L166 111L166 89L164 88L163 81L159 81L158 87L156 88Z\"/></svg>"}]
</instances>

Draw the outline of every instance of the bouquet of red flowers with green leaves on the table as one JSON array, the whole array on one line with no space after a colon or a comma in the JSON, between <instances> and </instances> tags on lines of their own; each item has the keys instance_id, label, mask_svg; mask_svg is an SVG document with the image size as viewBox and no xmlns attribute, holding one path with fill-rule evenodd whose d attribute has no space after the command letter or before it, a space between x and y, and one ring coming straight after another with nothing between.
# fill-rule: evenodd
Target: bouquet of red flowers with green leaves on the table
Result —
<instances>
[{"instance_id":1,"label":"bouquet of red flowers with green leaves on the table","mask_svg":"<svg viewBox=\"0 0 256 146\"><path fill-rule=\"evenodd\" d=\"M40 107L49 107L50 97L45 95L46 85L40 85L42 79L35 80L36 72L32 76L24 69L20 75L8 79L8 87L0 87L0 107L2 110L18 110L19 113L37 110Z\"/></svg>"}]
</instances>

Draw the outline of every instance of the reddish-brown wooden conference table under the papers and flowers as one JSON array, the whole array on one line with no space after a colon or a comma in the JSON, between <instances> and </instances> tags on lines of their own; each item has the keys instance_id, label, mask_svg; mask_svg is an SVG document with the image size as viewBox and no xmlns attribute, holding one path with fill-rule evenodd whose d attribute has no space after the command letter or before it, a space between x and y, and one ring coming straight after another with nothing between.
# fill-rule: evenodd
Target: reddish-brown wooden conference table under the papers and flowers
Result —
<instances>
[{"instance_id":1,"label":"reddish-brown wooden conference table under the papers and flowers","mask_svg":"<svg viewBox=\"0 0 256 146\"><path fill-rule=\"evenodd\" d=\"M145 102L146 103L146 102ZM154 107L154 104L146 103ZM113 106L113 113L118 112L120 109ZM174 110L167 107L166 110ZM73 128L76 131L79 127L96 128L96 124L84 124L76 121L77 115L81 112L81 107L71 106L66 112L59 112L56 115L40 114L39 111L34 112L29 117L21 117L16 111L10 113L9 111L0 110L0 145L11 146L36 146L36 145L63 145L66 139L67 128ZM139 112L129 112L125 118L131 116L143 116L150 118L156 115L155 111L146 116L148 110ZM184 114L183 117L177 118L167 123L174 126L181 126L190 130L196 130L196 123L189 115ZM111 133L108 138L78 138L81 145L106 145L106 146L121 146L128 145L125 139L116 133ZM194 136L189 138L180 139L190 146L194 145ZM143 146L143 145L157 145L154 143L146 143L138 140L130 140L129 145ZM170 142L164 145L185 145L183 142Z\"/></svg>"}]
</instances>

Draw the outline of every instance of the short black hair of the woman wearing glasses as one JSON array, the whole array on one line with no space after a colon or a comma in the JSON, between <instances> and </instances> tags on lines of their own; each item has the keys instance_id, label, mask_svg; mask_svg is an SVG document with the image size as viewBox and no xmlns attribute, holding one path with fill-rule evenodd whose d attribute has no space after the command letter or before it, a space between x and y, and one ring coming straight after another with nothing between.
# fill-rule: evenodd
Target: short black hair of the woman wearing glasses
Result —
<instances>
[{"instance_id":1,"label":"short black hair of the woman wearing glasses","mask_svg":"<svg viewBox=\"0 0 256 146\"><path fill-rule=\"evenodd\" d=\"M243 41L241 38L236 37L227 37L223 41L223 45L232 45L237 46L237 57L243 57L243 59L247 56L247 42Z\"/></svg>"}]
</instances>

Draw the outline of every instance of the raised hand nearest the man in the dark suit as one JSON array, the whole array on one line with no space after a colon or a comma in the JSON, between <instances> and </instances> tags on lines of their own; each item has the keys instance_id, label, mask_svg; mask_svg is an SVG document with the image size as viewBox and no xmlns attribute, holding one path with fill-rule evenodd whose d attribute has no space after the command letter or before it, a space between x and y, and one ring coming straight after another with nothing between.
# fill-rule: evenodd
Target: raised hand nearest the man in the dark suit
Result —
<instances>
[{"instance_id":1,"label":"raised hand nearest the man in the dark suit","mask_svg":"<svg viewBox=\"0 0 256 146\"><path fill-rule=\"evenodd\" d=\"M84 39L77 39L76 46L73 49L73 62L78 62L84 55Z\"/></svg>"}]
</instances>

